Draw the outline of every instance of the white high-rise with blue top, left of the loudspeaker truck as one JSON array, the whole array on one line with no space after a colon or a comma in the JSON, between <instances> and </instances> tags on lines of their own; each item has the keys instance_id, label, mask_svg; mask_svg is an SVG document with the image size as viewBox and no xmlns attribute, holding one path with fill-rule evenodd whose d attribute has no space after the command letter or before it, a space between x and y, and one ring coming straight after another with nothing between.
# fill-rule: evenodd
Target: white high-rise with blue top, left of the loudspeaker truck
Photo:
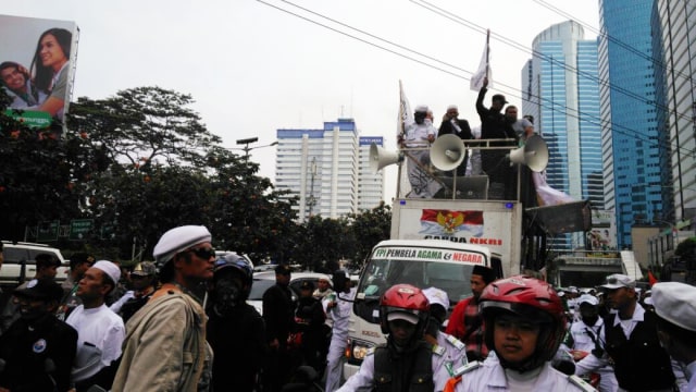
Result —
<instances>
[{"instance_id":1,"label":"white high-rise with blue top, left of the loudspeaker truck","mask_svg":"<svg viewBox=\"0 0 696 392\"><path fill-rule=\"evenodd\" d=\"M277 130L275 186L299 197L298 217L336 219L378 206L384 173L370 170L370 144L352 119L324 122L321 130Z\"/></svg>"}]
</instances>

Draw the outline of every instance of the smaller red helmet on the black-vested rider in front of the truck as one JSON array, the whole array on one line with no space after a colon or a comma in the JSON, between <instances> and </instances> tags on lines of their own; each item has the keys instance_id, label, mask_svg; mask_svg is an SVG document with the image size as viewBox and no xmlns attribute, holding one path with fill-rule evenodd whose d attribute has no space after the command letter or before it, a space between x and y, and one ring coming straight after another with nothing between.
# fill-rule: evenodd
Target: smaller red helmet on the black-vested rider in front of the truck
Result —
<instances>
[{"instance_id":1,"label":"smaller red helmet on the black-vested rider in front of the truck","mask_svg":"<svg viewBox=\"0 0 696 392\"><path fill-rule=\"evenodd\" d=\"M415 334L422 335L427 324L431 305L421 289L410 284L395 284L380 299L380 327L389 333L388 316L393 311L407 313L418 318Z\"/></svg>"}]
</instances>

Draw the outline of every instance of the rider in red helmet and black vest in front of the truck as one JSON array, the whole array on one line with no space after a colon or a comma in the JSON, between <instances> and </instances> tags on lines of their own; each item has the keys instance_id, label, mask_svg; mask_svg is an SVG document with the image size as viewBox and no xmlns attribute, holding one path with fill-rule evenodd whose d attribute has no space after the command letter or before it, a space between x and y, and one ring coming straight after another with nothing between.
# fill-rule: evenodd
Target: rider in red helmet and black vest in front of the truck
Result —
<instances>
[{"instance_id":1,"label":"rider in red helmet and black vest in front of the truck","mask_svg":"<svg viewBox=\"0 0 696 392\"><path fill-rule=\"evenodd\" d=\"M430 304L423 292L410 284L397 284L380 301L380 327L387 343L365 356L360 370L338 392L439 391L449 378L436 379L439 364L433 346L423 340Z\"/></svg>"}]
</instances>

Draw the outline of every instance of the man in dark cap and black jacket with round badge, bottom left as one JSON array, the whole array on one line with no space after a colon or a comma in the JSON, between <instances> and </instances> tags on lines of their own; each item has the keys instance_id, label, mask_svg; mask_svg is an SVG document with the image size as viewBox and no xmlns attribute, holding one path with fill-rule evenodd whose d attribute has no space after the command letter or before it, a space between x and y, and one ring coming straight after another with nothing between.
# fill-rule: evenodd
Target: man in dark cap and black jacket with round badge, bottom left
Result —
<instances>
[{"instance_id":1,"label":"man in dark cap and black jacket with round badge, bottom left","mask_svg":"<svg viewBox=\"0 0 696 392\"><path fill-rule=\"evenodd\" d=\"M62 295L51 279L32 280L14 292L20 319L0 338L0 391L70 390L77 331L53 316Z\"/></svg>"}]
</instances>

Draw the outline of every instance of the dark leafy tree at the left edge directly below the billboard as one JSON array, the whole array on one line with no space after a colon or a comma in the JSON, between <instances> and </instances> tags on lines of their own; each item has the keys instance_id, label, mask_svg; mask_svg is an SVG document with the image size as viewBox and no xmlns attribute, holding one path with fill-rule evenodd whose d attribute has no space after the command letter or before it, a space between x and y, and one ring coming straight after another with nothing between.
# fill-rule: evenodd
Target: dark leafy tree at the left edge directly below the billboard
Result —
<instances>
[{"instance_id":1,"label":"dark leafy tree at the left edge directly below the billboard","mask_svg":"<svg viewBox=\"0 0 696 392\"><path fill-rule=\"evenodd\" d=\"M21 241L41 222L79 218L79 185L103 166L85 139L16 121L21 111L7 112L3 97L0 89L0 237Z\"/></svg>"}]
</instances>

